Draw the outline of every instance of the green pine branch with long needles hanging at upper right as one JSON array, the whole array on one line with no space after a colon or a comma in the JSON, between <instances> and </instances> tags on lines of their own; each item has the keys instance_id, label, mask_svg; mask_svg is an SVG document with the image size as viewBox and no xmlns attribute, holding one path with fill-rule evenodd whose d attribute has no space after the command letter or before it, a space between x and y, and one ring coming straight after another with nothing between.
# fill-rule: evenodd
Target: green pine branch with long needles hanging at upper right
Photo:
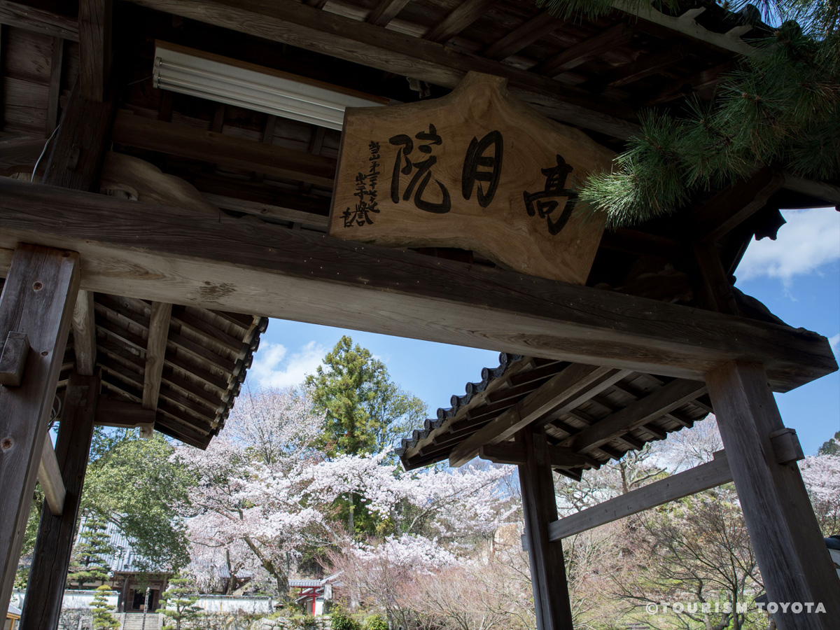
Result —
<instances>
[{"instance_id":1,"label":"green pine branch with long needles hanging at upper right","mask_svg":"<svg viewBox=\"0 0 840 630\"><path fill-rule=\"evenodd\" d=\"M690 102L678 116L642 113L641 132L627 141L612 173L583 183L580 199L605 212L609 226L675 213L690 197L763 166L818 180L840 176L840 3L762 4L781 26L753 42L756 52L722 77L711 102ZM595 16L612 3L544 5L559 14Z\"/></svg>"}]
</instances>

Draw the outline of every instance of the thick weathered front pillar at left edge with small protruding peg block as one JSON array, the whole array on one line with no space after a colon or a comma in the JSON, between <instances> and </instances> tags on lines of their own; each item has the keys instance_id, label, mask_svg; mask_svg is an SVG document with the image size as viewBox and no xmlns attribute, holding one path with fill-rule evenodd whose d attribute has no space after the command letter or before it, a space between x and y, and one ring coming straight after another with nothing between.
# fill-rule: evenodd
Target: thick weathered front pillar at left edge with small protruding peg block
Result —
<instances>
[{"instance_id":1,"label":"thick weathered front pillar at left edge with small protruding peg block","mask_svg":"<svg viewBox=\"0 0 840 630\"><path fill-rule=\"evenodd\" d=\"M25 333L30 349L20 386L0 386L0 611L12 596L78 290L76 252L15 249L0 297L0 337Z\"/></svg>"}]
</instances>

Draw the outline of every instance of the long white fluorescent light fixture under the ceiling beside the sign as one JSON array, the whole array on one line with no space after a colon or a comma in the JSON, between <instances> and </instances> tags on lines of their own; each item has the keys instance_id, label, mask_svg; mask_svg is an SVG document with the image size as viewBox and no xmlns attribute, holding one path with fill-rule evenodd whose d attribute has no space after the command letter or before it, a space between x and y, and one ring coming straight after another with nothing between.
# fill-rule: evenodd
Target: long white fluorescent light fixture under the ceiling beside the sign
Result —
<instances>
[{"instance_id":1,"label":"long white fluorescent light fixture under the ceiling beside the sign","mask_svg":"<svg viewBox=\"0 0 840 630\"><path fill-rule=\"evenodd\" d=\"M388 104L386 98L161 41L155 42L153 81L161 90L339 130L344 108Z\"/></svg>"}]
</instances>

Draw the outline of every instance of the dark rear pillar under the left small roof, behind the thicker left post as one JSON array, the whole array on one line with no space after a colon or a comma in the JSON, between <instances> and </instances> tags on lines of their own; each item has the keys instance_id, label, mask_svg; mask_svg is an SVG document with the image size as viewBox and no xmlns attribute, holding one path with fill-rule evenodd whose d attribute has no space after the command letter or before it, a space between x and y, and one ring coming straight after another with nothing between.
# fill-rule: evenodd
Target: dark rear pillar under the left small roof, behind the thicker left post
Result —
<instances>
[{"instance_id":1,"label":"dark rear pillar under the left small roof, behind the thicker left post","mask_svg":"<svg viewBox=\"0 0 840 630\"><path fill-rule=\"evenodd\" d=\"M20 630L55 630L58 627L61 599L70 567L73 530L76 528L91 449L99 387L98 376L75 373L67 383L58 439L55 441L55 455L67 496L61 516L53 516L46 507L41 510Z\"/></svg>"}]
</instances>

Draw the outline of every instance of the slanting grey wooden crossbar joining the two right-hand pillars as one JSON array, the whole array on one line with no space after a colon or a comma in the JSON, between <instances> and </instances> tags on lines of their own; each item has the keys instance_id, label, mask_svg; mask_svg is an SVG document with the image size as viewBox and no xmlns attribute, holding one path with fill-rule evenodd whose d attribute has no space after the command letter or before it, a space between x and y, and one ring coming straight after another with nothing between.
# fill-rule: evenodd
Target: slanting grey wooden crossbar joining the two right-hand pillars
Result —
<instances>
[{"instance_id":1,"label":"slanting grey wooden crossbar joining the two right-hand pillars","mask_svg":"<svg viewBox=\"0 0 840 630\"><path fill-rule=\"evenodd\" d=\"M576 533L597 528L608 522L617 521L631 514L644 512L651 507L661 506L669 501L676 501L683 496L722 486L732 481L729 462L726 455L716 456L707 464L701 464L690 470L654 481L648 486L603 501L549 525L549 540L562 540Z\"/></svg>"}]
</instances>

